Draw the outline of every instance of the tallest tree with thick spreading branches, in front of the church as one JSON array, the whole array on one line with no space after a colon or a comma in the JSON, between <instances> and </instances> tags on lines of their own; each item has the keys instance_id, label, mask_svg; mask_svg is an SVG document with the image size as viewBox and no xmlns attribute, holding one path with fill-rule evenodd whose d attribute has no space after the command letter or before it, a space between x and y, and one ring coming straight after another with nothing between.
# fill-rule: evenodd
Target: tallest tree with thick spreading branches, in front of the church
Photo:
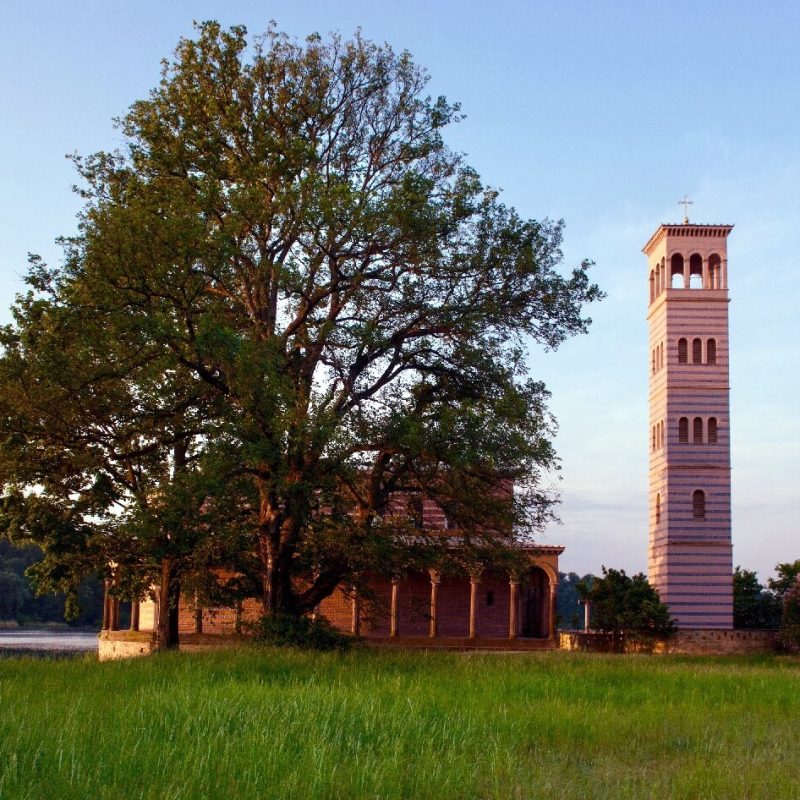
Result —
<instances>
[{"instance_id":1,"label":"tallest tree with thick spreading branches, in front of the church","mask_svg":"<svg viewBox=\"0 0 800 800\"><path fill-rule=\"evenodd\" d=\"M440 560L530 536L554 501L526 345L584 332L600 292L588 263L558 271L560 223L520 218L447 148L459 109L426 83L360 34L249 46L205 23L122 149L76 159L79 234L36 265L37 302L98 320L113 353L141 343L177 390L161 420L202 398L193 446L226 465L206 507L239 509L267 611L419 558L436 539L392 497L445 510L460 547Z\"/></svg>"}]
</instances>

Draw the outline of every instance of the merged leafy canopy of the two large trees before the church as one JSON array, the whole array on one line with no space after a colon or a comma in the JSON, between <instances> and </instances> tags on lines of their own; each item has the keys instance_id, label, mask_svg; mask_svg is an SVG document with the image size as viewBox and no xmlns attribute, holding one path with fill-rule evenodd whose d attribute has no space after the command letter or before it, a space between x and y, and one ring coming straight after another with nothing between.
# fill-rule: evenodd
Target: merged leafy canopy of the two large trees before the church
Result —
<instances>
[{"instance_id":1,"label":"merged leafy canopy of the two large trees before the church","mask_svg":"<svg viewBox=\"0 0 800 800\"><path fill-rule=\"evenodd\" d=\"M302 614L552 513L527 347L585 332L601 293L588 262L559 271L562 223L446 146L459 108L426 83L360 33L203 23L122 147L75 158L79 232L32 261L0 363L4 524L52 581L216 564ZM435 500L459 547L411 535L399 495Z\"/></svg>"}]
</instances>

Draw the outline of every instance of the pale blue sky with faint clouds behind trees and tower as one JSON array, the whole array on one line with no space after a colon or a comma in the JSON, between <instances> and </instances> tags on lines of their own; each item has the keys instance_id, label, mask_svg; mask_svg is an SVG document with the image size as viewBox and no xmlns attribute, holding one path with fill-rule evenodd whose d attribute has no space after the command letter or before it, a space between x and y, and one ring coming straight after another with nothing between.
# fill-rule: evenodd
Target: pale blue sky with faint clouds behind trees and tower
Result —
<instances>
[{"instance_id":1,"label":"pale blue sky with faint clouds behind trees and tower","mask_svg":"<svg viewBox=\"0 0 800 800\"><path fill-rule=\"evenodd\" d=\"M734 564L800 557L800 4L0 0L0 322L28 252L56 263L80 207L67 153L158 82L193 20L361 28L461 103L445 132L523 217L564 219L564 269L607 293L586 336L532 348L559 433L561 567L647 566L647 264L661 223L729 223Z\"/></svg>"}]
</instances>

